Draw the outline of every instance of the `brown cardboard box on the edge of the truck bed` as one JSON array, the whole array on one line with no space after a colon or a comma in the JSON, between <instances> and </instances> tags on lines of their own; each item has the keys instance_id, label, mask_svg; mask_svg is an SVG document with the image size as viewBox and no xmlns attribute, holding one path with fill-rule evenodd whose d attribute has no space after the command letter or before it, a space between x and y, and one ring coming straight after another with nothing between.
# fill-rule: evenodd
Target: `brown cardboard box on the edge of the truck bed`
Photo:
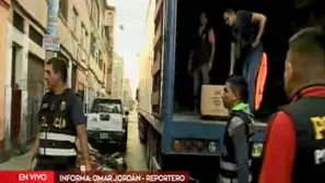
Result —
<instances>
[{"instance_id":1,"label":"brown cardboard box on the edge of the truck bed","mask_svg":"<svg viewBox=\"0 0 325 183\"><path fill-rule=\"evenodd\" d=\"M201 86L201 115L227 117L228 109L223 107L224 85Z\"/></svg>"}]
</instances>

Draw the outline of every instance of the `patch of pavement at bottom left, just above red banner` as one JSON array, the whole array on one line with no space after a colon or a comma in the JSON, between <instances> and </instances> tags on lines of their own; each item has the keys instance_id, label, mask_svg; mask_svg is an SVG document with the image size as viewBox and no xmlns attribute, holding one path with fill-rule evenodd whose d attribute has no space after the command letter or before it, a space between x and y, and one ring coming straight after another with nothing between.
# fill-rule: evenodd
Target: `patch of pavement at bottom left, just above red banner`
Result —
<instances>
[{"instance_id":1,"label":"patch of pavement at bottom left, just above red banner","mask_svg":"<svg viewBox=\"0 0 325 183\"><path fill-rule=\"evenodd\" d=\"M31 154L16 156L0 164L0 170L30 170Z\"/></svg>"}]
</instances>

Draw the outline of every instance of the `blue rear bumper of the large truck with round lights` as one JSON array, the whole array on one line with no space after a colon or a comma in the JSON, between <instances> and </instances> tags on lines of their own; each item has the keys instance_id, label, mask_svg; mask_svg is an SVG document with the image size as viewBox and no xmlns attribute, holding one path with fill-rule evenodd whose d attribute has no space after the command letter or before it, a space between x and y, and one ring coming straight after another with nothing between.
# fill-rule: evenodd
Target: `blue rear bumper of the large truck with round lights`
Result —
<instances>
[{"instance_id":1,"label":"blue rear bumper of the large truck with round lights","mask_svg":"<svg viewBox=\"0 0 325 183\"><path fill-rule=\"evenodd\" d=\"M221 121L216 121L214 123L173 121L169 126L171 129L163 131L162 152L164 155L219 156L223 149L225 124L225 122ZM259 144L264 142L265 127L257 127L255 130L254 142ZM176 141L181 142L182 147L189 142L194 145L202 143L205 144L205 148L200 151L182 148L181 151L175 152L173 145ZM209 150L209 144L211 142L216 145L217 150L214 152ZM258 148L260 148L259 145L256 146L256 149Z\"/></svg>"}]
</instances>

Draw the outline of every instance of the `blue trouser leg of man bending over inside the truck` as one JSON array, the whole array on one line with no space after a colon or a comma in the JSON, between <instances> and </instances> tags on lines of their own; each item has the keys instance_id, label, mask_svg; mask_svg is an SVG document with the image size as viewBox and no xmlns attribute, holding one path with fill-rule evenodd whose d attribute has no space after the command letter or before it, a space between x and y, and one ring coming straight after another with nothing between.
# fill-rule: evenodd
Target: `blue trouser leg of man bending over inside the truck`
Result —
<instances>
[{"instance_id":1,"label":"blue trouser leg of man bending over inside the truck","mask_svg":"<svg viewBox=\"0 0 325 183\"><path fill-rule=\"evenodd\" d=\"M247 82L247 89L248 89L248 105L251 111L254 111L254 103L255 103L255 86L256 86L256 78L258 74L258 68L262 59L263 48L257 47L251 50L244 59L243 63L243 77Z\"/></svg>"}]
</instances>

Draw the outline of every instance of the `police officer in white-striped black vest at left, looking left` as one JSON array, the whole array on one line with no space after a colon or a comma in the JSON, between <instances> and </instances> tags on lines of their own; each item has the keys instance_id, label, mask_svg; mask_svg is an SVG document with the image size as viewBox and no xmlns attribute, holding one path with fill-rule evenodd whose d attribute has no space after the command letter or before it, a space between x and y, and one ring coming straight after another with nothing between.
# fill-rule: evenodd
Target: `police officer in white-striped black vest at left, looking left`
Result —
<instances>
[{"instance_id":1,"label":"police officer in white-striped black vest at left, looking left","mask_svg":"<svg viewBox=\"0 0 325 183\"><path fill-rule=\"evenodd\" d=\"M76 166L76 139L81 144L85 169L91 170L88 137L81 100L66 87L67 65L58 58L45 64L47 91L38 112L39 132L32 148L35 170L71 170Z\"/></svg>"}]
</instances>

